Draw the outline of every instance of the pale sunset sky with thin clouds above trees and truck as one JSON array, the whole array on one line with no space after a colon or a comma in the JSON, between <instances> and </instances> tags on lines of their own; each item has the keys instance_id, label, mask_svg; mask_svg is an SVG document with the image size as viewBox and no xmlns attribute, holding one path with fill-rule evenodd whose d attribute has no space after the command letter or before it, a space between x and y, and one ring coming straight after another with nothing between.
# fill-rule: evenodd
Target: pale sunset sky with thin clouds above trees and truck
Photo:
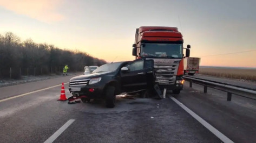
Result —
<instances>
[{"instance_id":1,"label":"pale sunset sky with thin clouds above trees and truck","mask_svg":"<svg viewBox=\"0 0 256 143\"><path fill-rule=\"evenodd\" d=\"M178 27L201 66L256 67L254 0L0 0L0 34L106 61L134 60L140 26Z\"/></svg>"}]
</instances>

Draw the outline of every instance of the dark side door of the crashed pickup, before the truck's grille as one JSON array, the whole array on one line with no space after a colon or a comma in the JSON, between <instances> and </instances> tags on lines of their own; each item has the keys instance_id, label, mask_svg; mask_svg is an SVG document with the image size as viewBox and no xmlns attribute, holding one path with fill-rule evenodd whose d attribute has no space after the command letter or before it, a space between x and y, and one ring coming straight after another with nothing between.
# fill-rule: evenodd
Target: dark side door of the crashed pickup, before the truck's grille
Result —
<instances>
[{"instance_id":1,"label":"dark side door of the crashed pickup, before the truck's grille","mask_svg":"<svg viewBox=\"0 0 256 143\"><path fill-rule=\"evenodd\" d=\"M122 92L146 89L154 82L154 61L139 59L121 69Z\"/></svg>"}]
</instances>

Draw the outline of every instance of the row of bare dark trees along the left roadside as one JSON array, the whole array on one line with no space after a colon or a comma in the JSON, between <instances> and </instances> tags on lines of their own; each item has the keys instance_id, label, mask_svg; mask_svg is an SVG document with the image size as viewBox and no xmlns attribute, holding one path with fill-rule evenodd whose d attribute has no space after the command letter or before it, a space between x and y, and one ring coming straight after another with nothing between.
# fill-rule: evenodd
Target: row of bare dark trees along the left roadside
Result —
<instances>
[{"instance_id":1,"label":"row of bare dark trees along the left roadside","mask_svg":"<svg viewBox=\"0 0 256 143\"><path fill-rule=\"evenodd\" d=\"M50 44L37 44L32 39L21 41L12 32L0 34L0 75L1 78L20 78L21 69L41 69L41 74L52 73L52 67L69 66L69 71L82 71L84 66L101 66L105 60L94 58L88 53L60 49ZM59 68L58 68L59 69ZM54 70L59 71L60 70ZM28 71L29 72L29 71Z\"/></svg>"}]
</instances>

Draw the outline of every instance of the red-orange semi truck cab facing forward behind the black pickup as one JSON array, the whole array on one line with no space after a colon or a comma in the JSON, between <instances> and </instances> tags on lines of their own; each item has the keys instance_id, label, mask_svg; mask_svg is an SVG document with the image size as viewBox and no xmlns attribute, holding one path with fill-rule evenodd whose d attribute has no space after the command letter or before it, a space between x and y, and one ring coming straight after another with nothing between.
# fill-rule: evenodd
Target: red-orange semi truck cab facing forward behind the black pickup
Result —
<instances>
[{"instance_id":1,"label":"red-orange semi truck cab facing forward behind the black pickup","mask_svg":"<svg viewBox=\"0 0 256 143\"><path fill-rule=\"evenodd\" d=\"M190 45L186 48L189 57ZM156 83L161 89L179 94L183 89L183 38L177 27L141 26L136 29L133 44L135 59L154 60Z\"/></svg>"}]
</instances>

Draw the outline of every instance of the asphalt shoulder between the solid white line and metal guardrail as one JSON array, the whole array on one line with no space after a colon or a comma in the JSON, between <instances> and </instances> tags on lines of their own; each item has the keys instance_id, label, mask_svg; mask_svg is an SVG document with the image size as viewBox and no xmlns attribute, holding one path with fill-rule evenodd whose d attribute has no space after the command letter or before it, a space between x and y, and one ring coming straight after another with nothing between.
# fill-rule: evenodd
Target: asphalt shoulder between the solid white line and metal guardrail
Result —
<instances>
[{"instance_id":1,"label":"asphalt shoulder between the solid white line and metal guardrail","mask_svg":"<svg viewBox=\"0 0 256 143\"><path fill-rule=\"evenodd\" d=\"M178 101L204 118L234 142L256 142L256 101L232 95L227 102L227 93L202 85L185 82L184 90L176 97Z\"/></svg>"}]
</instances>

